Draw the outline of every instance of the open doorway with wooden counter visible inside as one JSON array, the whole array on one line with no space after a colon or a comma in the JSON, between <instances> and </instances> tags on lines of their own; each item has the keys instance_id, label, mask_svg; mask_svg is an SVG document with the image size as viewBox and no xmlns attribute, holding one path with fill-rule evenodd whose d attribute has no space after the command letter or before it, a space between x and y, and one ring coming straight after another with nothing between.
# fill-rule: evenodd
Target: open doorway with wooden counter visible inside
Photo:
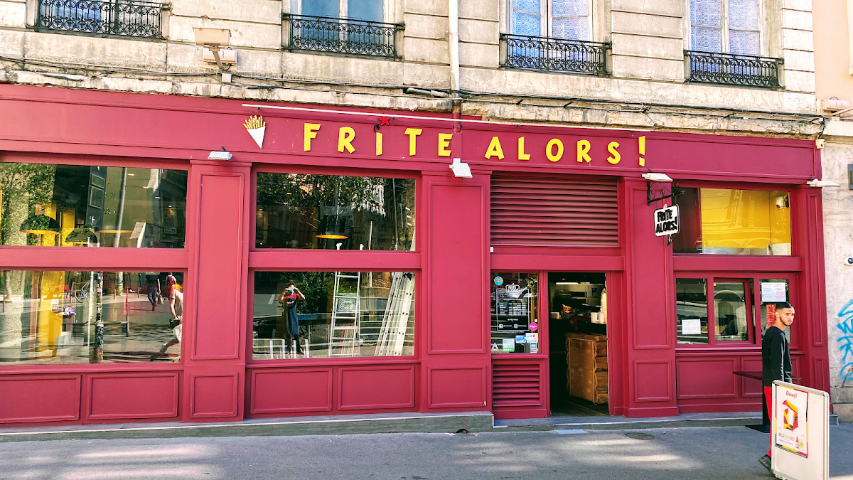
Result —
<instances>
[{"instance_id":1,"label":"open doorway with wooden counter visible inside","mask_svg":"<svg viewBox=\"0 0 853 480\"><path fill-rule=\"evenodd\" d=\"M606 275L548 272L551 415L609 415Z\"/></svg>"}]
</instances>

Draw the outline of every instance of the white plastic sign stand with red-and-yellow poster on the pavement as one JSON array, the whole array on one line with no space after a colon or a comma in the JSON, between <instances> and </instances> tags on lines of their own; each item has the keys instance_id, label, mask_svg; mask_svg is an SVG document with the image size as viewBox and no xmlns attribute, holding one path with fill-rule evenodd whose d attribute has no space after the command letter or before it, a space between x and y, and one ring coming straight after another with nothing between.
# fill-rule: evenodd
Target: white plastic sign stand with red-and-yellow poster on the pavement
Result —
<instances>
[{"instance_id":1,"label":"white plastic sign stand with red-and-yellow poster on the pavement","mask_svg":"<svg viewBox=\"0 0 853 480\"><path fill-rule=\"evenodd\" d=\"M785 480L829 480L829 394L773 383L773 473Z\"/></svg>"}]
</instances>

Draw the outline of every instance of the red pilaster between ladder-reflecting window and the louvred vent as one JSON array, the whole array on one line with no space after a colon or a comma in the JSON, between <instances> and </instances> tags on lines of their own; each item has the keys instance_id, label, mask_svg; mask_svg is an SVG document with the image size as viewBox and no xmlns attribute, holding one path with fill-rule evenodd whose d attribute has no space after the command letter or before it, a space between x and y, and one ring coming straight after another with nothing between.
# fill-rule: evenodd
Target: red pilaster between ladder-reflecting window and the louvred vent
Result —
<instances>
[{"instance_id":1,"label":"red pilaster between ladder-reflecting window and the louvred vent","mask_svg":"<svg viewBox=\"0 0 853 480\"><path fill-rule=\"evenodd\" d=\"M422 185L421 410L488 410L489 176L425 173Z\"/></svg>"}]
</instances>

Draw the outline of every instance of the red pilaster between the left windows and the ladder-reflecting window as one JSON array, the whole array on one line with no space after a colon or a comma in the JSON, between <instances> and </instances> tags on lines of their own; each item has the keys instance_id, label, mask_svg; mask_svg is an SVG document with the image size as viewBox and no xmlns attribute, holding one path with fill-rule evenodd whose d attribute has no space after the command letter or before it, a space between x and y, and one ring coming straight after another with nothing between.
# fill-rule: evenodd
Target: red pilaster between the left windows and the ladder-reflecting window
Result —
<instances>
[{"instance_id":1,"label":"red pilaster between the left windows and the ladder-reflecting window","mask_svg":"<svg viewBox=\"0 0 853 480\"><path fill-rule=\"evenodd\" d=\"M243 418L250 164L193 161L183 315L183 421Z\"/></svg>"}]
</instances>

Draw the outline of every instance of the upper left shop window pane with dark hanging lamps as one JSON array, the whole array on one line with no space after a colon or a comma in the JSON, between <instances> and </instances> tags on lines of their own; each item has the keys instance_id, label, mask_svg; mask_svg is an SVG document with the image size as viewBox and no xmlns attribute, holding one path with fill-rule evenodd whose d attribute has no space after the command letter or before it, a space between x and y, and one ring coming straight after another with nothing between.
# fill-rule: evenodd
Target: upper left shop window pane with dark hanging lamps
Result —
<instances>
[{"instance_id":1,"label":"upper left shop window pane with dark hanging lamps","mask_svg":"<svg viewBox=\"0 0 853 480\"><path fill-rule=\"evenodd\" d=\"M183 248L187 172L0 163L0 244Z\"/></svg>"}]
</instances>

